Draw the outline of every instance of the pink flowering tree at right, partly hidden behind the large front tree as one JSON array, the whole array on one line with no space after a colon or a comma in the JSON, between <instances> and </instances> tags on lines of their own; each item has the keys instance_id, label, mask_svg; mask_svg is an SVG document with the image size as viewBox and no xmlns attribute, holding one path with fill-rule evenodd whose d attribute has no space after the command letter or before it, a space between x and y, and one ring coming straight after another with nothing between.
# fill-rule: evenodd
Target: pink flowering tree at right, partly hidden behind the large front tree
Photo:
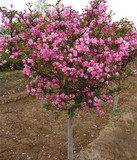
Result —
<instances>
[{"instance_id":1,"label":"pink flowering tree at right, partly hidden behind the large front tree","mask_svg":"<svg viewBox=\"0 0 137 160\"><path fill-rule=\"evenodd\" d=\"M123 53L129 54L129 52L130 52L130 55L128 57L126 57L126 59L121 58L121 64L119 66L119 72L118 72L119 77L115 81L117 83L117 92L114 97L113 111L116 111L117 104L118 104L119 91L121 91L121 89L124 86L124 83L123 83L124 80L127 77L136 74L136 70L134 70L133 68L136 68L134 63L135 63L135 59L136 59L136 49L135 48L136 48L136 38L137 37L133 32L134 25L127 20L122 19L120 22L115 22L114 27L116 29L116 32L115 32L116 35L121 37L121 40L123 39L123 42L119 43L120 55ZM115 43L117 43L117 42L115 42ZM133 46L135 48L131 47L133 43L134 43ZM128 63L131 64L132 69L129 67Z\"/></svg>"}]
</instances>

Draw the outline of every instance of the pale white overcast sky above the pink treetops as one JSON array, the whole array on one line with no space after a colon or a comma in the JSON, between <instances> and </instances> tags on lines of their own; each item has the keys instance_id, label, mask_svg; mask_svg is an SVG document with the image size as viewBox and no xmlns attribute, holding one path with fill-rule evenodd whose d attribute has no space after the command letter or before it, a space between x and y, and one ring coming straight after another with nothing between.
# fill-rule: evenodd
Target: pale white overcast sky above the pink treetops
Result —
<instances>
[{"instance_id":1,"label":"pale white overcast sky above the pink treetops","mask_svg":"<svg viewBox=\"0 0 137 160\"><path fill-rule=\"evenodd\" d=\"M14 5L15 9L24 10L25 3L35 3L37 0L0 0L0 6L6 6L9 8L10 4ZM90 0L62 0L61 2L67 6L72 5L76 10L81 11L89 5ZM49 4L55 4L57 0L48 0ZM107 0L108 12L113 10L116 15L113 17L113 21L118 21L121 18L127 17L130 21L135 23L137 27L137 0Z\"/></svg>"}]
</instances>

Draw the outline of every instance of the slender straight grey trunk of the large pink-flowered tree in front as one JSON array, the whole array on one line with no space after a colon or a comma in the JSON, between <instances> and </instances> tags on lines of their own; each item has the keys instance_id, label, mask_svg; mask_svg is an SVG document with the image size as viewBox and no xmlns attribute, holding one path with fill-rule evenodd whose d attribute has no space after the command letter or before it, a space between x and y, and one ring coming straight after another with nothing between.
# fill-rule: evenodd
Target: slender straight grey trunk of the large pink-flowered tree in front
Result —
<instances>
[{"instance_id":1,"label":"slender straight grey trunk of the large pink-flowered tree in front","mask_svg":"<svg viewBox=\"0 0 137 160\"><path fill-rule=\"evenodd\" d=\"M68 119L68 160L73 160L72 118Z\"/></svg>"}]
</instances>

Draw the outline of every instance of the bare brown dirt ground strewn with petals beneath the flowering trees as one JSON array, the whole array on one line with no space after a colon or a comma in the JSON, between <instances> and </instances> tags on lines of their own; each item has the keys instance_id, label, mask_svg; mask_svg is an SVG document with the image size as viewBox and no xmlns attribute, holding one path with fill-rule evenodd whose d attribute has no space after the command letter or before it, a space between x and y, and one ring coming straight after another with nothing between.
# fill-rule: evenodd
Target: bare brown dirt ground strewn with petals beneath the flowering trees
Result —
<instances>
[{"instance_id":1,"label":"bare brown dirt ground strewn with petals beneath the flowering trees","mask_svg":"<svg viewBox=\"0 0 137 160\"><path fill-rule=\"evenodd\" d=\"M137 84L137 77L130 81ZM66 113L56 120L52 111L41 107L40 100L27 95L24 83L21 71L0 73L0 160L67 160ZM129 152L133 150L132 145L136 148L137 143L133 140L133 137L137 137L136 104L137 88L130 85L129 90L120 95L116 115L112 114L113 104L102 107L105 115L99 115L94 109L77 111L73 119L74 159L103 160L102 153L97 151L102 146L104 160L122 160L117 157L123 155L123 151L116 150L116 144L120 145L121 139L123 148L127 145L126 140L131 139ZM129 115L124 117L124 114L130 114L132 118ZM127 133L128 138L124 138L123 133ZM108 137L117 142L113 144L113 150L109 150L112 141ZM108 143L110 147L106 145ZM129 160L137 160L135 154L133 150L134 159Z\"/></svg>"}]
</instances>

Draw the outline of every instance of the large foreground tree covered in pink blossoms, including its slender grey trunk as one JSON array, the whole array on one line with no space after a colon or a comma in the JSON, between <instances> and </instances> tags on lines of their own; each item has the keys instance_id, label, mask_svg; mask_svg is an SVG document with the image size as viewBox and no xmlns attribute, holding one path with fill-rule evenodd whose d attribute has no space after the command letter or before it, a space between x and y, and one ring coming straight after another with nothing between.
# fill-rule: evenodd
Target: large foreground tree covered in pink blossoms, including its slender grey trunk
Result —
<instances>
[{"instance_id":1,"label":"large foreground tree covered in pink blossoms, including its slender grey trunk","mask_svg":"<svg viewBox=\"0 0 137 160\"><path fill-rule=\"evenodd\" d=\"M72 159L76 109L95 107L103 114L100 101L112 102L118 91L111 85L136 73L137 32L129 21L111 22L106 0L91 1L81 15L59 2L46 17L31 10L31 4L30 13L1 8L5 28L14 34L0 38L0 51L6 53L0 65L22 59L27 92L40 97L44 92L45 107L54 108L57 116L67 111ZM5 20L11 13L12 23Z\"/></svg>"}]
</instances>

